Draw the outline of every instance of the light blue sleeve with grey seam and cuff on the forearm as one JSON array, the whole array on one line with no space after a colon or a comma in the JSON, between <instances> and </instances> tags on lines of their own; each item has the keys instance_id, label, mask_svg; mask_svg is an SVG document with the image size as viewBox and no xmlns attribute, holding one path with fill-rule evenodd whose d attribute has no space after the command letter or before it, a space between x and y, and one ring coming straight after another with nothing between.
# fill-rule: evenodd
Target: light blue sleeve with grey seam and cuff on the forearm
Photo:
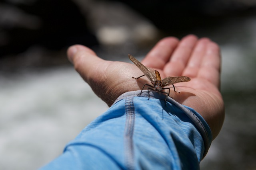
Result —
<instances>
[{"instance_id":1,"label":"light blue sleeve with grey seam and cuff on the forearm","mask_svg":"<svg viewBox=\"0 0 256 170\"><path fill-rule=\"evenodd\" d=\"M194 109L127 93L41 169L197 170L211 141Z\"/></svg>"}]
</instances>

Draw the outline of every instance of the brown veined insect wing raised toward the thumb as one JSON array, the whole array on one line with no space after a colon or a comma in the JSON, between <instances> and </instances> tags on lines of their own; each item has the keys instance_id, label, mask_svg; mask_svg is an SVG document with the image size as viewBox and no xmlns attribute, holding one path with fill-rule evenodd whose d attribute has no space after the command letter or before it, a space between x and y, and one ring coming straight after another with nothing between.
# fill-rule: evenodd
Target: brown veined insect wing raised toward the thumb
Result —
<instances>
[{"instance_id":1,"label":"brown veined insect wing raised toward the thumb","mask_svg":"<svg viewBox=\"0 0 256 170\"><path fill-rule=\"evenodd\" d=\"M156 75L152 68L148 68L148 67L144 66L137 59L135 59L135 57L133 57L130 54L128 54L128 57L132 61L132 63L134 63L138 68L140 68L140 70L145 74L145 76L148 78L148 80L150 80L151 82L156 81Z\"/></svg>"}]
</instances>

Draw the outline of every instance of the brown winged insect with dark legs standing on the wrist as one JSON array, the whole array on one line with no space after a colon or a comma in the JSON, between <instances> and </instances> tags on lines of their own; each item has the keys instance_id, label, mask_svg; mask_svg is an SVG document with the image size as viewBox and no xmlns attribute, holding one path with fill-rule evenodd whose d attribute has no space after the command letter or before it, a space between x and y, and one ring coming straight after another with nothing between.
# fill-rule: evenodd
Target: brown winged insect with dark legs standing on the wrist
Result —
<instances>
[{"instance_id":1,"label":"brown winged insect with dark legs standing on the wrist","mask_svg":"<svg viewBox=\"0 0 256 170\"><path fill-rule=\"evenodd\" d=\"M175 90L175 87L173 84L179 83L179 82L190 81L190 78L186 77L186 76L166 77L162 80L161 76L157 70L153 70L152 68L144 66L142 63L140 63L137 59L135 59L135 57L133 57L130 54L128 54L128 57L132 61L132 63L134 63L144 73L144 75L142 75L142 76L146 76L148 78L148 80L150 80L151 83L153 84L153 86L150 84L144 84L144 86L142 87L142 90L143 90L145 86L148 86L148 96L149 96L149 90L153 90L153 91L156 91L159 93L166 94L167 95L166 99L167 99L167 97L170 94L170 88L164 88L165 86L169 86L172 84L172 86L174 88L174 92L177 92ZM142 76L139 76L138 78L140 78ZM134 78L136 80L138 79L135 77L132 77L132 78ZM163 91L165 89L168 89L168 93ZM142 90L140 93L142 93ZM177 93L180 93L180 92L177 92ZM149 97L148 97L148 99L149 99ZM166 99L165 99L165 101L166 101Z\"/></svg>"}]
</instances>

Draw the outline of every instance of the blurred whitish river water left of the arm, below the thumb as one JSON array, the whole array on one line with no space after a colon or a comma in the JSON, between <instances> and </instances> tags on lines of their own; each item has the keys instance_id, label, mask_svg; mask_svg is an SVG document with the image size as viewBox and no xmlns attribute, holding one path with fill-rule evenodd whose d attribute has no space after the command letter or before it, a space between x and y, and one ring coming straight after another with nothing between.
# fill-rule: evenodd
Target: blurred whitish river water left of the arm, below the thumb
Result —
<instances>
[{"instance_id":1,"label":"blurred whitish river water left of the arm, below the thumb","mask_svg":"<svg viewBox=\"0 0 256 170\"><path fill-rule=\"evenodd\" d=\"M0 79L1 170L46 164L108 108L71 67Z\"/></svg>"}]
</instances>

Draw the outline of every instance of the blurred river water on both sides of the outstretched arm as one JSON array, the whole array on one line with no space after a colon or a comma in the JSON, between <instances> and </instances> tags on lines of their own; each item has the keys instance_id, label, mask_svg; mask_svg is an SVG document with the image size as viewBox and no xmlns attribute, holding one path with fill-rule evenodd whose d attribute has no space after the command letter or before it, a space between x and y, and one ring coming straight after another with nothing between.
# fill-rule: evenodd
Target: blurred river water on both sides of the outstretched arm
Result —
<instances>
[{"instance_id":1,"label":"blurred river water on both sides of the outstretched arm","mask_svg":"<svg viewBox=\"0 0 256 170\"><path fill-rule=\"evenodd\" d=\"M218 30L209 34L222 39L226 118L201 163L202 170L256 169L256 19L236 24L240 26L220 28L226 36L218 37ZM225 37L228 40L223 41ZM1 73L0 87L3 170L43 166L108 109L72 67Z\"/></svg>"}]
</instances>

